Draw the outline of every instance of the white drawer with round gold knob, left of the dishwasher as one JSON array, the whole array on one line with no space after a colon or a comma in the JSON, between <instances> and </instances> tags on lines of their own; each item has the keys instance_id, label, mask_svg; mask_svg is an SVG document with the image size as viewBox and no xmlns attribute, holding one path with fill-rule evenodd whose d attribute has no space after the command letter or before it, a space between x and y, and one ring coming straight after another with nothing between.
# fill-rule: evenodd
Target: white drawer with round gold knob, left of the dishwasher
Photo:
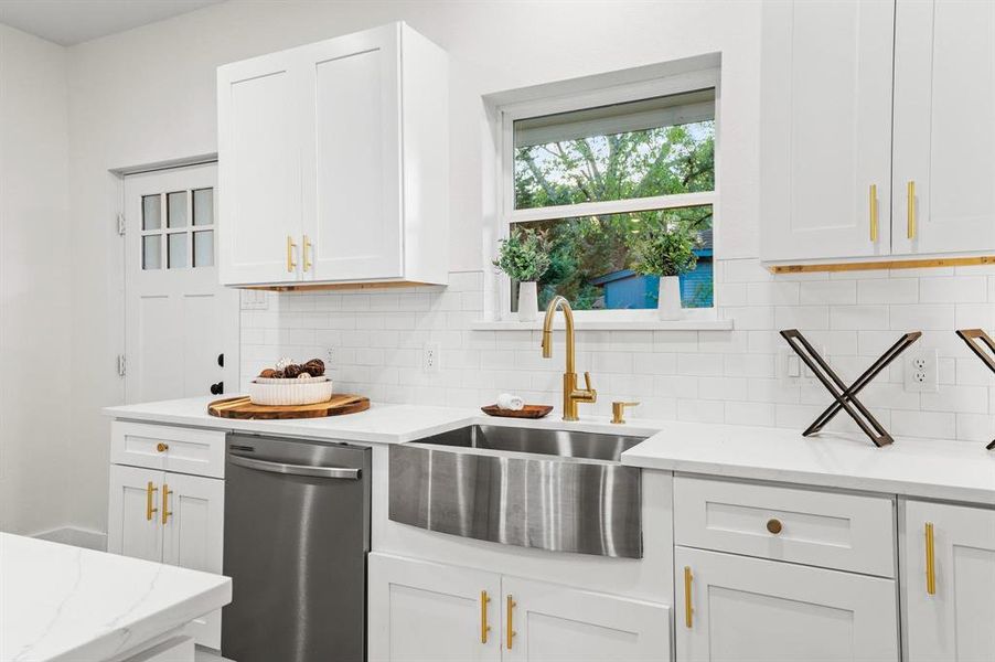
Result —
<instances>
[{"instance_id":1,"label":"white drawer with round gold knob, left of the dishwasher","mask_svg":"<svg viewBox=\"0 0 995 662\"><path fill-rule=\"evenodd\" d=\"M224 478L225 433L115 420L110 426L110 461Z\"/></svg>"}]
</instances>

